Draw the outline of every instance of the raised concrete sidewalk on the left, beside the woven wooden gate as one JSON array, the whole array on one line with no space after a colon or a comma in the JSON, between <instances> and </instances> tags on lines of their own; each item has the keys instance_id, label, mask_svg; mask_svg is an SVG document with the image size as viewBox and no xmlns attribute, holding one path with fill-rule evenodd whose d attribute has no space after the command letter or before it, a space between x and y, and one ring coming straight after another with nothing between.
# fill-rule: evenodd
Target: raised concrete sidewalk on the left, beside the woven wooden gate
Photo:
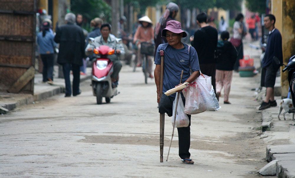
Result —
<instances>
[{"instance_id":1,"label":"raised concrete sidewalk on the left, beside the woven wooden gate","mask_svg":"<svg viewBox=\"0 0 295 178\"><path fill-rule=\"evenodd\" d=\"M87 75L80 75L80 83L91 78L91 68L87 68L86 73ZM64 93L65 80L56 77L58 76L58 66L54 66L54 76L53 85L42 83L42 74L36 71L33 95L0 92L0 106L10 111L24 104L32 104L36 101ZM70 75L70 77L71 81L73 81L73 75Z\"/></svg>"}]
</instances>

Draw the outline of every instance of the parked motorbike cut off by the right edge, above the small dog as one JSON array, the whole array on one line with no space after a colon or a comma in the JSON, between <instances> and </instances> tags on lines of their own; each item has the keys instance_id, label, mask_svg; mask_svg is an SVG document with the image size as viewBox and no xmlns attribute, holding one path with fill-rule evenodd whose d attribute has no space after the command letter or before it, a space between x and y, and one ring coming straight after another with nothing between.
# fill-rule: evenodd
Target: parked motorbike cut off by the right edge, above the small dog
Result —
<instances>
[{"instance_id":1,"label":"parked motorbike cut off by the right edge, above the small dog","mask_svg":"<svg viewBox=\"0 0 295 178\"><path fill-rule=\"evenodd\" d=\"M278 58L274 57L274 60L277 64L280 64L280 61L278 60ZM289 71L289 74L288 74L289 87L290 87L290 92L292 96L292 103L293 103L293 106L295 106L295 55L289 59L289 63L287 65L281 64L281 66L285 66L282 72L285 72L287 70ZM289 109L288 112L294 113L295 108Z\"/></svg>"}]
</instances>

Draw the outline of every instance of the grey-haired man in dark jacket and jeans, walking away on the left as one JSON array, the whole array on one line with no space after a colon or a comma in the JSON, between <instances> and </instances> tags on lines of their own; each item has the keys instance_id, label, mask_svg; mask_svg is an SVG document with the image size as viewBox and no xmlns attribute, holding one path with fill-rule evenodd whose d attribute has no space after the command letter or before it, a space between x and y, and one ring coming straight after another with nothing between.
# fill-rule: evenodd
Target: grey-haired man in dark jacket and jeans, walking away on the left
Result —
<instances>
[{"instance_id":1,"label":"grey-haired man in dark jacket and jeans, walking away on the left","mask_svg":"<svg viewBox=\"0 0 295 178\"><path fill-rule=\"evenodd\" d=\"M63 66L65 77L65 97L71 97L70 71L73 71L73 96L81 93L80 66L83 64L85 37L83 30L75 25L76 16L73 13L65 15L66 24L57 28L54 41L60 44L57 62Z\"/></svg>"}]
</instances>

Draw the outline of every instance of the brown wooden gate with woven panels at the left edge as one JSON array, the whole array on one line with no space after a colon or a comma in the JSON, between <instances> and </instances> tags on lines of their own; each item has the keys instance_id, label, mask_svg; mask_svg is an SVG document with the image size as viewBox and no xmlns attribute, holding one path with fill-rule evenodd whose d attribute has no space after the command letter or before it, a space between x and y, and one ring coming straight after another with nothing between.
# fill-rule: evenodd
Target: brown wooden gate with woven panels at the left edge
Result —
<instances>
[{"instance_id":1,"label":"brown wooden gate with woven panels at the left edge","mask_svg":"<svg viewBox=\"0 0 295 178\"><path fill-rule=\"evenodd\" d=\"M34 93L36 0L0 1L0 91Z\"/></svg>"}]
</instances>

